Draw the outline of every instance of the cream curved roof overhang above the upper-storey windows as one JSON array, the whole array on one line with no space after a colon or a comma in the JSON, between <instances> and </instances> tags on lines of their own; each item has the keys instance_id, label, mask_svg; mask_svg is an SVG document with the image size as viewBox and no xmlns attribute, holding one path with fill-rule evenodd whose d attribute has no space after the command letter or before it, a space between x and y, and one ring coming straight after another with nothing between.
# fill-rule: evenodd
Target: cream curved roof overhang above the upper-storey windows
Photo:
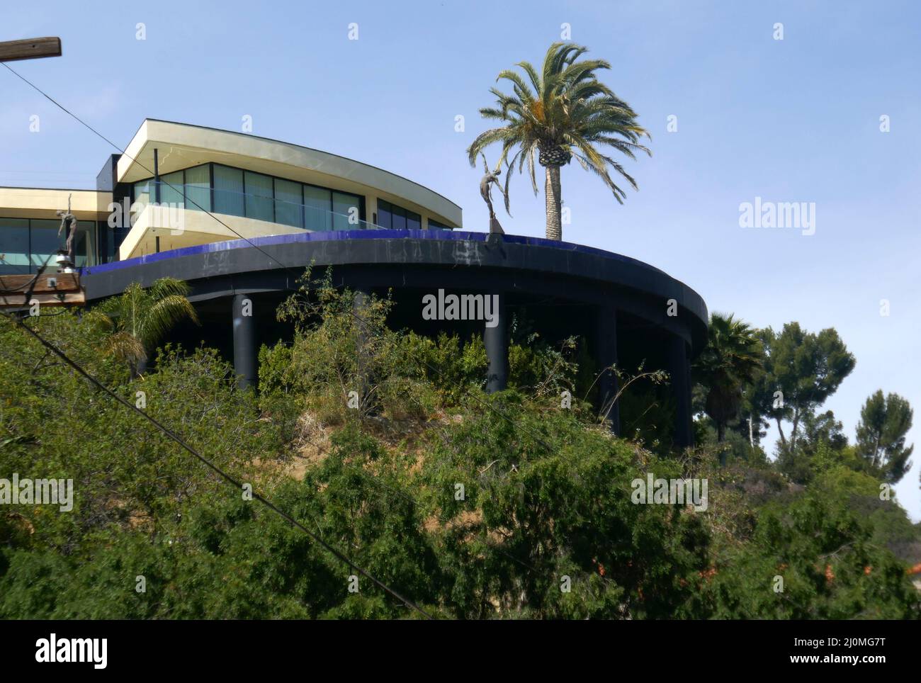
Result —
<instances>
[{"instance_id":1,"label":"cream curved roof overhang above the upper-storey windows","mask_svg":"<svg viewBox=\"0 0 921 683\"><path fill-rule=\"evenodd\" d=\"M378 195L461 226L460 206L390 171L309 147L190 123L145 119L119 159L118 181L150 178L155 148L161 175L207 162L223 163L336 190Z\"/></svg>"}]
</instances>

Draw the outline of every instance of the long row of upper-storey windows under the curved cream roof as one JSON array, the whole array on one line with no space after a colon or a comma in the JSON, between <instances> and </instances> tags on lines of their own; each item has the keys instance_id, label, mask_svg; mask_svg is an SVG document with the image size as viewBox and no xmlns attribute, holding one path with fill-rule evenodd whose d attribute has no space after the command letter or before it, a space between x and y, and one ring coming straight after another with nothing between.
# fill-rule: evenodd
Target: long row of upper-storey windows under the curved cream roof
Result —
<instances>
[{"instance_id":1,"label":"long row of upper-storey windows under the curved cream roof","mask_svg":"<svg viewBox=\"0 0 921 683\"><path fill-rule=\"evenodd\" d=\"M160 176L160 203L239 215L308 230L357 230L364 198L222 164L204 164ZM166 183L169 183L168 187ZM154 201L153 179L134 183L133 201ZM418 221L418 215L412 214Z\"/></svg>"}]
</instances>

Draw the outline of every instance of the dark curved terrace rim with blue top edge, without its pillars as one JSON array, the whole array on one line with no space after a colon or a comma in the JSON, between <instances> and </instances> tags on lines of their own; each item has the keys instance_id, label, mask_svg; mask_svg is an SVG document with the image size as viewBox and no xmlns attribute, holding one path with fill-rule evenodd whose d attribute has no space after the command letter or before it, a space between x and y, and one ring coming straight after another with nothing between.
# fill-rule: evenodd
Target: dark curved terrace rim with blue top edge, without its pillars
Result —
<instances>
[{"instance_id":1,"label":"dark curved terrace rim with blue top edge, without its pillars","mask_svg":"<svg viewBox=\"0 0 921 683\"><path fill-rule=\"evenodd\" d=\"M436 269L429 284L486 286L489 273L509 290L548 289L557 295L611 304L685 336L694 353L706 341L704 299L686 284L649 264L604 249L542 237L504 235L494 243L486 233L449 230L342 230L274 235L212 242L143 257L91 266L83 271L87 299L118 294L131 282L149 284L172 275L192 284L193 297L290 288L305 267L359 266L389 269L382 282L408 284L414 271ZM395 277L392 269L400 274ZM256 290L253 290L256 291ZM667 313L675 299L680 312Z\"/></svg>"}]
</instances>

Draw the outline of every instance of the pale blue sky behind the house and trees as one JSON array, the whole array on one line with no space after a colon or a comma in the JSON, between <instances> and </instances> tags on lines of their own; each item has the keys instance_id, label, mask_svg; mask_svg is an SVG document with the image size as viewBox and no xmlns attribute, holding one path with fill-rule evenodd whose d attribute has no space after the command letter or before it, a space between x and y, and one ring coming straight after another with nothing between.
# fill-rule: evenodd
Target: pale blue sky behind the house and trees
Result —
<instances>
[{"instance_id":1,"label":"pale blue sky behind the house and trees","mask_svg":"<svg viewBox=\"0 0 921 683\"><path fill-rule=\"evenodd\" d=\"M146 41L135 40L138 22ZM852 440L878 388L918 409L919 453L897 487L917 521L917 3L4 3L0 40L61 36L63 58L12 66L118 145L145 117L239 130L249 114L254 134L417 180L484 229L479 171L464 155L484 129L477 110L498 71L540 61L564 22L612 63L605 80L639 112L654 151L628 162L640 190L624 206L565 168L565 239L646 260L711 311L759 327L836 328L857 368L827 407ZM40 133L29 133L32 114ZM677 133L666 132L671 114ZM0 141L0 185L89 188L112 151L5 69ZM755 196L816 203L815 235L740 228L739 204ZM513 180L512 213L501 216L507 232L543 234L542 196L524 178Z\"/></svg>"}]
</instances>

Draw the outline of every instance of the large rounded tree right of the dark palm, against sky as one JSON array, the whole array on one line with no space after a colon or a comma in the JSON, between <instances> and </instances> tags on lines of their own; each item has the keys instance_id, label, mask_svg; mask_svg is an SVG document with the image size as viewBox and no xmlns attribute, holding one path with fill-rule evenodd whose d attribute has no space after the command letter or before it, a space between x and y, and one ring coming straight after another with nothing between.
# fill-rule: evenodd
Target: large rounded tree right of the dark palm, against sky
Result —
<instances>
[{"instance_id":1,"label":"large rounded tree right of the dark palm, against sky","mask_svg":"<svg viewBox=\"0 0 921 683\"><path fill-rule=\"evenodd\" d=\"M838 390L857 361L834 328L814 334L802 330L798 322L789 322L780 334L767 328L760 336L764 376L757 382L753 402L762 415L775 421L781 450L792 452L805 416ZM792 423L789 440L784 420Z\"/></svg>"}]
</instances>

